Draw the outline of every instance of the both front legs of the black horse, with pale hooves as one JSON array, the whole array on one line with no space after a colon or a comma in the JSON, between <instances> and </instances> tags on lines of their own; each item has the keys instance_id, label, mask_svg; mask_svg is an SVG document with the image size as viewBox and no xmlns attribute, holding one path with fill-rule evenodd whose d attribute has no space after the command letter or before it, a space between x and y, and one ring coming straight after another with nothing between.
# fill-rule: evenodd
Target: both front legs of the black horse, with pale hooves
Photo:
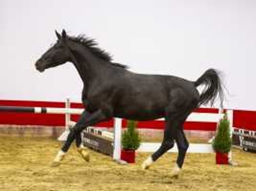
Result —
<instances>
[{"instance_id":1,"label":"both front legs of the black horse, with pale hooves","mask_svg":"<svg viewBox=\"0 0 256 191\"><path fill-rule=\"evenodd\" d=\"M93 113L89 113L87 110L84 110L76 125L70 130L67 140L54 158L52 166L58 166L60 164L60 161L65 157L74 139L76 139L78 152L86 161L89 161L89 154L85 151L85 148L82 145L81 132L88 126L94 125L105 119L107 119L107 117L101 109Z\"/></svg>"}]
</instances>

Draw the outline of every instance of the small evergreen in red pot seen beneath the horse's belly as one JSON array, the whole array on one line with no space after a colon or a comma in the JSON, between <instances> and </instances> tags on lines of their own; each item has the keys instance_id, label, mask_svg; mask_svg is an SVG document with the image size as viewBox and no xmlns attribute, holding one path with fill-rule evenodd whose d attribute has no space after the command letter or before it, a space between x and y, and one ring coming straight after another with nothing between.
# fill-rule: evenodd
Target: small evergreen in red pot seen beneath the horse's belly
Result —
<instances>
[{"instance_id":1,"label":"small evergreen in red pot seen beneath the horse's belly","mask_svg":"<svg viewBox=\"0 0 256 191\"><path fill-rule=\"evenodd\" d=\"M135 163L135 150L140 146L140 136L136 130L137 121L128 120L127 129L122 133L121 159Z\"/></svg>"}]
</instances>

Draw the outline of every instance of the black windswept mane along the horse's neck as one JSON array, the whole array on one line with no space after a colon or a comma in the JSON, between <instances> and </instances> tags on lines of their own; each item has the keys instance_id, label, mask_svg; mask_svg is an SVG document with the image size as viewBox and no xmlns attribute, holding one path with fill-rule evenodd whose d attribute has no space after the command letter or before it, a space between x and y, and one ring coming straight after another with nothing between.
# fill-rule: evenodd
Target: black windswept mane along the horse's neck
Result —
<instances>
[{"instance_id":1,"label":"black windswept mane along the horse's neck","mask_svg":"<svg viewBox=\"0 0 256 191\"><path fill-rule=\"evenodd\" d=\"M112 62L112 56L106 52L105 50L98 47L98 43L95 41L95 39L86 37L85 35L78 35L77 37L68 37L73 42L79 43L83 46L85 46L87 49L91 51L94 55L99 57L100 59L112 64L113 66L120 67L120 68L128 68L128 66L119 64L119 63L113 63Z\"/></svg>"}]
</instances>

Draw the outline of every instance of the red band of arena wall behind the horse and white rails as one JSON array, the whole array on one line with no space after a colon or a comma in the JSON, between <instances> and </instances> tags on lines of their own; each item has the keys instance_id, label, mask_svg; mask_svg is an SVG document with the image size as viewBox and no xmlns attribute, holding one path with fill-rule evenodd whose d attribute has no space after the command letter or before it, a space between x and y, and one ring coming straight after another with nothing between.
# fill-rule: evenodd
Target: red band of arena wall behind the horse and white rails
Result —
<instances>
[{"instance_id":1,"label":"red band of arena wall behind the horse and white rails","mask_svg":"<svg viewBox=\"0 0 256 191\"><path fill-rule=\"evenodd\" d=\"M23 100L0 100L1 106L29 106L29 107L65 107L64 102L49 101L23 101ZM81 103L71 103L72 108L83 108ZM218 113L216 108L199 108L194 112ZM71 120L77 121L79 115L71 115ZM234 110L234 127L256 131L256 111ZM1 112L0 124L16 125L44 125L44 126L65 126L65 115L63 114L40 114L40 113L14 113ZM113 127L113 120L102 122L96 126ZM124 120L123 126L126 126ZM217 124L214 122L185 122L186 130L207 130L214 131ZM163 129L164 121L141 121L138 128Z\"/></svg>"}]
</instances>

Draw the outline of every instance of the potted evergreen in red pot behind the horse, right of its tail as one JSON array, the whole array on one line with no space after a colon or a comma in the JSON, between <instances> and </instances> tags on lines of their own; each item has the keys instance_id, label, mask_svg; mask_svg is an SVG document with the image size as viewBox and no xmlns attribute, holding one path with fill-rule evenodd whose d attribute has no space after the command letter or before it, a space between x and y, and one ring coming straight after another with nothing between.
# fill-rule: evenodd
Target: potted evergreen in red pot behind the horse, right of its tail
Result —
<instances>
[{"instance_id":1,"label":"potted evergreen in red pot behind the horse, right of its tail","mask_svg":"<svg viewBox=\"0 0 256 191\"><path fill-rule=\"evenodd\" d=\"M218 124L217 133L213 140L213 148L216 152L216 164L229 164L228 153L231 146L230 122L227 113L225 113Z\"/></svg>"}]
</instances>

